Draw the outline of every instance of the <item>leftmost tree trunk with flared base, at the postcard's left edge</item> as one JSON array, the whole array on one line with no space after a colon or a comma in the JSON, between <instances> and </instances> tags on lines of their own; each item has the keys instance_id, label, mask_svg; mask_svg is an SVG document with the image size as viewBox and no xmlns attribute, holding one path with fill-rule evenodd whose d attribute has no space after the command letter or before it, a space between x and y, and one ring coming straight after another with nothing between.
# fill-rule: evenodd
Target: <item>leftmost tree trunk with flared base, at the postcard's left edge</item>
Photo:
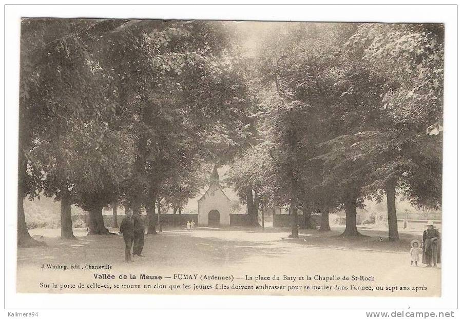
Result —
<instances>
[{"instance_id":1,"label":"leftmost tree trunk with flared base, at the postcard's left edge","mask_svg":"<svg viewBox=\"0 0 462 319\"><path fill-rule=\"evenodd\" d=\"M27 161L20 144L17 176L17 247L44 246L45 243L33 240L29 234L29 231L27 230L26 216L24 214L24 177L26 175L26 168Z\"/></svg>"}]
</instances>

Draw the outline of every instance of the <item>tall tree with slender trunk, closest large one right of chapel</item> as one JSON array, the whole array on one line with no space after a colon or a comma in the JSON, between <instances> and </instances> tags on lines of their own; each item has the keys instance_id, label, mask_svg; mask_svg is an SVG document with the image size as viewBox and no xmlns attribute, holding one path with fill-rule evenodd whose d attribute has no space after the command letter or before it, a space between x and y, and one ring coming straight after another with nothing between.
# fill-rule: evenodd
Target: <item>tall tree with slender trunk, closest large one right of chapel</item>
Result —
<instances>
[{"instance_id":1,"label":"tall tree with slender trunk, closest large one right of chapel","mask_svg":"<svg viewBox=\"0 0 462 319\"><path fill-rule=\"evenodd\" d=\"M321 28L329 32L320 32ZM370 97L368 94L355 94L356 101L349 101L350 96L344 93L351 85L359 87L367 82L368 73L342 53L342 39L352 34L354 28L355 25L347 24L287 25L279 31L276 41L263 47L260 61L263 79L266 83L274 83L280 97L280 101L270 103L270 121L267 123L275 145L279 145L273 154L277 166L285 171L284 184L291 196L288 202L293 206L292 211L298 207L308 210L313 208L311 203L319 202L313 196L322 192L315 191L316 183L310 182L307 175L313 173L311 159L321 152L318 145L359 131L361 125L371 118L358 118L362 112L367 112L362 104ZM371 86L366 84L365 92ZM317 164L314 168L319 171L322 166ZM325 174L315 175L325 177ZM336 183L320 181L318 185L335 189ZM359 196L361 185L347 183L344 187L357 189L348 189L350 195L343 196L343 202L348 202L349 210L353 211L357 198L351 197ZM292 224L296 236L295 214Z\"/></svg>"}]
</instances>

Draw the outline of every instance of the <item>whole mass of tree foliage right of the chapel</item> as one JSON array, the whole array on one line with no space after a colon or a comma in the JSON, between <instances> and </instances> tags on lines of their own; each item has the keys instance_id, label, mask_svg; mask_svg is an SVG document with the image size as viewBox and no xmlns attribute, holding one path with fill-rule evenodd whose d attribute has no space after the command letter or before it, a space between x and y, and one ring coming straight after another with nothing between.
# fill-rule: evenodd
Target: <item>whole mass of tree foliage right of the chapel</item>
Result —
<instances>
[{"instance_id":1,"label":"whole mass of tree foliage right of the chapel","mask_svg":"<svg viewBox=\"0 0 462 319\"><path fill-rule=\"evenodd\" d=\"M258 115L266 138L243 161L255 162L254 172L266 162L260 176L272 173L256 186L271 189L275 205L342 207L347 236L358 234L356 207L365 198L393 197L391 240L397 239L395 191L416 205L439 206L443 31L441 25L295 23L263 37ZM233 167L234 180L245 175L241 166Z\"/></svg>"}]
</instances>

